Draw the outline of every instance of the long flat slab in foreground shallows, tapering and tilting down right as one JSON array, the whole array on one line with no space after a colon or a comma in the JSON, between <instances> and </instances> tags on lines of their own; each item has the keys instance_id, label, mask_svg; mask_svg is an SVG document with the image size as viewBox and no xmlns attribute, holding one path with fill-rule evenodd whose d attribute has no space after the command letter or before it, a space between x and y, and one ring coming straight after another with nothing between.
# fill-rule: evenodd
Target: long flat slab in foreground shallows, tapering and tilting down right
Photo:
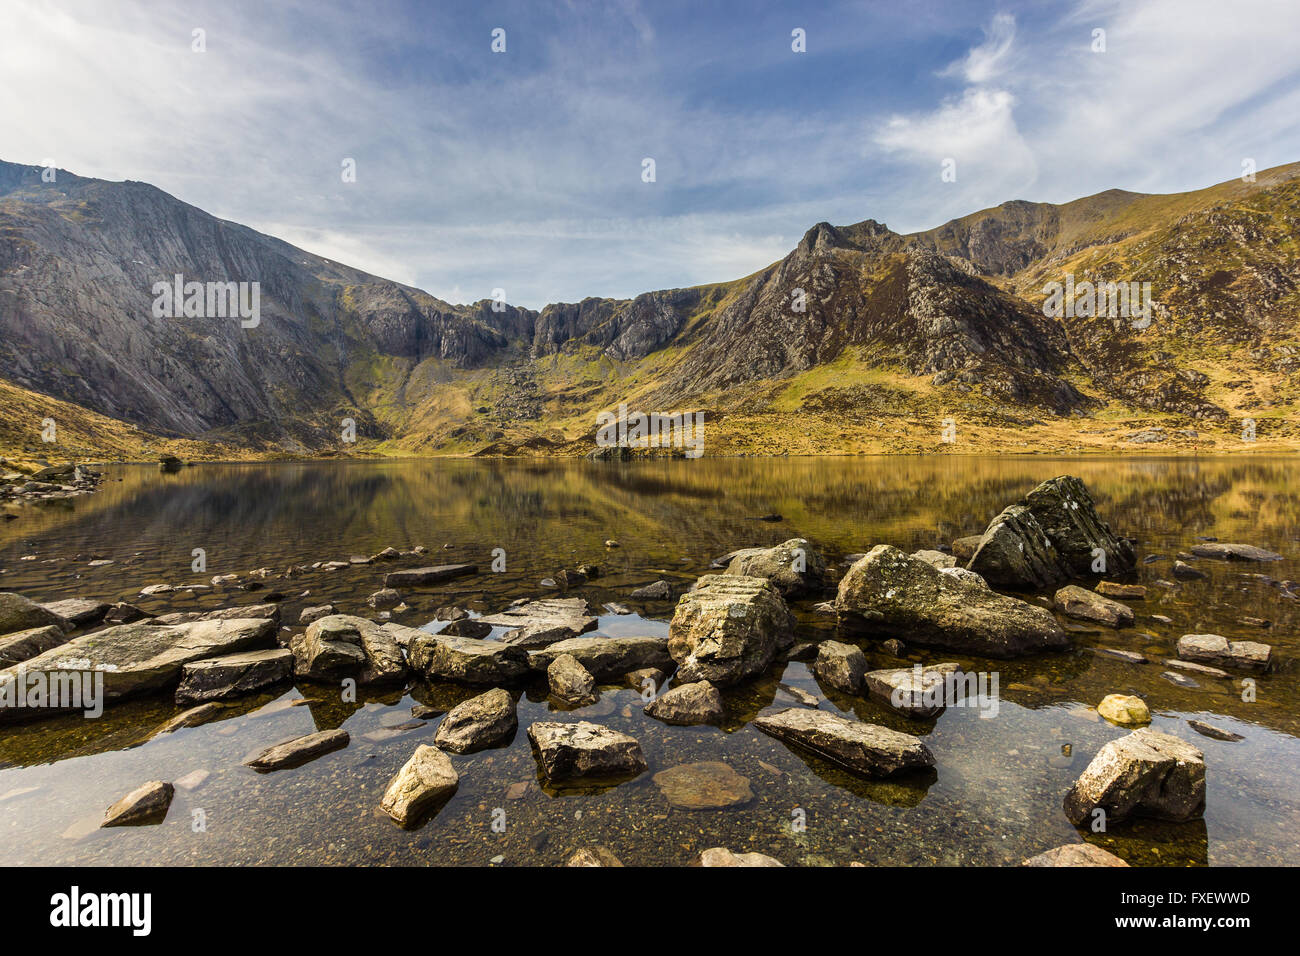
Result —
<instances>
[{"instance_id":1,"label":"long flat slab in foreground shallows, tapering and tilting down right","mask_svg":"<svg viewBox=\"0 0 1300 956\"><path fill-rule=\"evenodd\" d=\"M920 740L824 710L790 708L764 714L754 726L777 740L801 747L861 777L884 778L935 765Z\"/></svg>"}]
</instances>

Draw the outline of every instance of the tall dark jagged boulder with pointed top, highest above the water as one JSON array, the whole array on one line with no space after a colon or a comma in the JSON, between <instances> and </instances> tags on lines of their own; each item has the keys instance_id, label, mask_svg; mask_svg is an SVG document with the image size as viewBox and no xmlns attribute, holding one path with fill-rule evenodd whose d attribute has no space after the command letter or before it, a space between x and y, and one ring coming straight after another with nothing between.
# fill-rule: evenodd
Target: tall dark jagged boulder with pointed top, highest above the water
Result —
<instances>
[{"instance_id":1,"label":"tall dark jagged boulder with pointed top, highest above the water","mask_svg":"<svg viewBox=\"0 0 1300 956\"><path fill-rule=\"evenodd\" d=\"M993 587L1044 589L1071 578L1131 570L1138 554L1097 516L1087 486L1072 475L1044 481L988 525L966 567Z\"/></svg>"}]
</instances>

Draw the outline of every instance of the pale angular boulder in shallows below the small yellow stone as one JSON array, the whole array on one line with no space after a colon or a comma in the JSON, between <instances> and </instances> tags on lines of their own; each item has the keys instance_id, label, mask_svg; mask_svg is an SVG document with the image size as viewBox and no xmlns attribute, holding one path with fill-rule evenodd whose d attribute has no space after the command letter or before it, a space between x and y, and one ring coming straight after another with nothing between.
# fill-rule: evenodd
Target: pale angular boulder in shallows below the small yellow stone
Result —
<instances>
[{"instance_id":1,"label":"pale angular boulder in shallows below the small yellow stone","mask_svg":"<svg viewBox=\"0 0 1300 956\"><path fill-rule=\"evenodd\" d=\"M1205 812L1205 754L1186 740L1149 728L1112 740L1065 796L1065 816L1075 826L1088 822L1098 808L1108 823L1130 817L1200 817Z\"/></svg>"}]
</instances>

